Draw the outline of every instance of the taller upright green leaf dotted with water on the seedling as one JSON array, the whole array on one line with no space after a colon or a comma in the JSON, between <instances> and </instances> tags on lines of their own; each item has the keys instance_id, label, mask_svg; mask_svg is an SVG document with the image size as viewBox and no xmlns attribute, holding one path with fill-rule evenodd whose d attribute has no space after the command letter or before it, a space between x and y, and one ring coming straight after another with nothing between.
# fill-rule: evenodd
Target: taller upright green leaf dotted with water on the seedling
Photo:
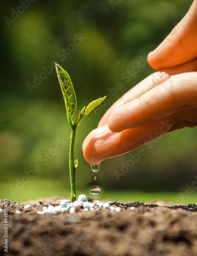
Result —
<instances>
[{"instance_id":1,"label":"taller upright green leaf dotted with water on the seedling","mask_svg":"<svg viewBox=\"0 0 197 256\"><path fill-rule=\"evenodd\" d=\"M60 87L62 90L62 94L64 97L65 105L67 113L69 113L70 117L72 117L77 108L77 98L75 94L75 90L73 88L71 79L68 75L68 73L62 69L57 63L56 65L56 72L58 75L58 80L60 83Z\"/></svg>"}]
</instances>

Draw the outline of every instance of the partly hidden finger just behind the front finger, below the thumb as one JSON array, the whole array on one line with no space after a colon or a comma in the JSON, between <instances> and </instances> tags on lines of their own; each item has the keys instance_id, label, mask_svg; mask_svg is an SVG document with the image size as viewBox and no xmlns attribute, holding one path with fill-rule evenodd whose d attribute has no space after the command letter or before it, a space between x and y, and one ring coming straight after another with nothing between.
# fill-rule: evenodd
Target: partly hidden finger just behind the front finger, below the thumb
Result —
<instances>
[{"instance_id":1,"label":"partly hidden finger just behind the front finger, below the thumb","mask_svg":"<svg viewBox=\"0 0 197 256\"><path fill-rule=\"evenodd\" d=\"M183 65L164 69L163 72L155 72L150 76L147 76L141 82L136 84L131 90L129 90L126 94L124 94L120 99L118 99L104 114L102 119L99 122L98 127L106 124L108 122L108 118L112 111L117 109L119 106L124 105L134 99L137 99L144 93L150 91L155 88L162 82L166 81L170 76L177 75L185 72L193 72L197 71L197 58L184 63Z\"/></svg>"}]
</instances>

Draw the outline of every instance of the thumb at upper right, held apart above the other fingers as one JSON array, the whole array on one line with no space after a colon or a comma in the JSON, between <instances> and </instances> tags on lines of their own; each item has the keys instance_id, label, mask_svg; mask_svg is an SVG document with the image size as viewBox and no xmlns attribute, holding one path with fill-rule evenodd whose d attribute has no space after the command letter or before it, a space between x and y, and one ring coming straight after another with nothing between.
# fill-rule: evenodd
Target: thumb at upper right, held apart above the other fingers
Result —
<instances>
[{"instance_id":1,"label":"thumb at upper right, held apart above the other fingers","mask_svg":"<svg viewBox=\"0 0 197 256\"><path fill-rule=\"evenodd\" d=\"M151 52L147 60L152 68L162 70L185 63L197 56L197 0L181 22L162 43Z\"/></svg>"}]
</instances>

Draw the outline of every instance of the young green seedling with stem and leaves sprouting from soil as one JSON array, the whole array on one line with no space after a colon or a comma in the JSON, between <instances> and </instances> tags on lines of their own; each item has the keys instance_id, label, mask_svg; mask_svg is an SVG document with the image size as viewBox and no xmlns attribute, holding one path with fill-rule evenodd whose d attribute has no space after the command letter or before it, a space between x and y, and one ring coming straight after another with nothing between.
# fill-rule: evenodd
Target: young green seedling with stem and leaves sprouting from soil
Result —
<instances>
[{"instance_id":1,"label":"young green seedling with stem and leaves sprouting from soil","mask_svg":"<svg viewBox=\"0 0 197 256\"><path fill-rule=\"evenodd\" d=\"M97 105L99 105L106 97L92 101L88 106L84 106L81 111L77 112L75 120L73 121L73 115L77 109L77 98L75 90L72 86L71 79L68 73L63 70L57 63L56 71L58 75L58 80L62 90L68 123L71 126L70 135L70 151L69 151L69 171L70 171L70 186L71 186L71 202L76 201L77 191L76 191L76 168L78 167L78 159L75 160L75 145L77 129L81 120L86 117Z\"/></svg>"}]
</instances>

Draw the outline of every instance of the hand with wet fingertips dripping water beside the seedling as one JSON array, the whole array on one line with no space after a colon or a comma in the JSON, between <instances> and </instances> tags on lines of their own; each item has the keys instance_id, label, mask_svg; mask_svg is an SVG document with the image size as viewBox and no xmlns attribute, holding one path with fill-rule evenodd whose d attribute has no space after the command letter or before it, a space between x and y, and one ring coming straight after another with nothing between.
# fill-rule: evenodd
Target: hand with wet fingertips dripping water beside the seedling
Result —
<instances>
[{"instance_id":1,"label":"hand with wet fingertips dripping water beside the seedling","mask_svg":"<svg viewBox=\"0 0 197 256\"><path fill-rule=\"evenodd\" d=\"M162 44L149 54L150 65L160 71L116 101L99 127L86 137L83 151L87 162L98 164L170 131L197 125L197 46L192 44L197 39L195 12L197 1Z\"/></svg>"}]
</instances>

